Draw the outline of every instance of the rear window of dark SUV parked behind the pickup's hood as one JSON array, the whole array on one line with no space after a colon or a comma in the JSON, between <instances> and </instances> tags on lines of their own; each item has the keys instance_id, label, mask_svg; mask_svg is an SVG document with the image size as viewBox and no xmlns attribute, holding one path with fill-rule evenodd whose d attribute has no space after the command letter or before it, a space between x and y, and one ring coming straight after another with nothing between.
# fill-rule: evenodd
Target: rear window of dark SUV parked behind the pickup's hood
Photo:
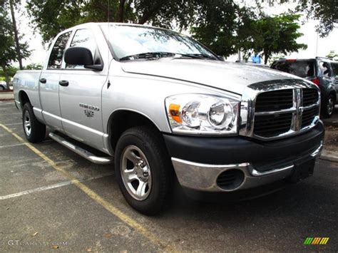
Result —
<instances>
[{"instance_id":1,"label":"rear window of dark SUV parked behind the pickup's hood","mask_svg":"<svg viewBox=\"0 0 338 253\"><path fill-rule=\"evenodd\" d=\"M301 78L311 78L315 76L314 61L311 60L277 61L271 68L290 73Z\"/></svg>"}]
</instances>

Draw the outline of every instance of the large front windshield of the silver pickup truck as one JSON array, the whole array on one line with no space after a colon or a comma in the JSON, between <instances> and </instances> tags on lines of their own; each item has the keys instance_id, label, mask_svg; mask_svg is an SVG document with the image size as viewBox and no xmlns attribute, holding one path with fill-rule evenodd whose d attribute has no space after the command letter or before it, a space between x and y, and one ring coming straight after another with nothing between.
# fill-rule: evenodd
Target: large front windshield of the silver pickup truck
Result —
<instances>
[{"instance_id":1,"label":"large front windshield of the silver pickup truck","mask_svg":"<svg viewBox=\"0 0 338 253\"><path fill-rule=\"evenodd\" d=\"M144 53L171 53L165 56L173 56L175 53L183 55L200 55L216 58L215 55L192 38L174 31L156 29L143 26L128 26L111 24L101 26L103 33L109 38L109 42L116 56L126 58ZM162 54L163 56L163 54Z\"/></svg>"}]
</instances>

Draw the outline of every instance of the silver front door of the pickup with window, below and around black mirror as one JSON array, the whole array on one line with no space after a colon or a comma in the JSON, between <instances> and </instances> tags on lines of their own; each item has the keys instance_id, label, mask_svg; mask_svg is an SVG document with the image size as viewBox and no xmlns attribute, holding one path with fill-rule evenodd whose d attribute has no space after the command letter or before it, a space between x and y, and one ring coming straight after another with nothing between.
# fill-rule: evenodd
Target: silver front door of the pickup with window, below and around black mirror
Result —
<instances>
[{"instance_id":1,"label":"silver front door of the pickup with window, below and around black mirror","mask_svg":"<svg viewBox=\"0 0 338 253\"><path fill-rule=\"evenodd\" d=\"M70 47L76 46L88 48L93 63L103 64L93 31L76 30ZM72 138L98 149L103 148L101 91L106 78L105 71L66 63L60 76L60 82L66 83L59 88L63 129Z\"/></svg>"}]
</instances>

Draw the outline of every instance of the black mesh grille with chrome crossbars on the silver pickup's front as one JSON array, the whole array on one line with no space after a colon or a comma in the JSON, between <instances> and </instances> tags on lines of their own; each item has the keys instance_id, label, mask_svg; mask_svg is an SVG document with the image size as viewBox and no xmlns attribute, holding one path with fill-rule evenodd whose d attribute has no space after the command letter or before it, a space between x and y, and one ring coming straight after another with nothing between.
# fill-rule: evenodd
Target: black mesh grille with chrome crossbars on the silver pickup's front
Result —
<instances>
[{"instance_id":1,"label":"black mesh grille with chrome crossbars on the silver pickup's front","mask_svg":"<svg viewBox=\"0 0 338 253\"><path fill-rule=\"evenodd\" d=\"M267 91L257 95L253 135L276 138L311 128L319 119L319 93L314 88Z\"/></svg>"}]
</instances>

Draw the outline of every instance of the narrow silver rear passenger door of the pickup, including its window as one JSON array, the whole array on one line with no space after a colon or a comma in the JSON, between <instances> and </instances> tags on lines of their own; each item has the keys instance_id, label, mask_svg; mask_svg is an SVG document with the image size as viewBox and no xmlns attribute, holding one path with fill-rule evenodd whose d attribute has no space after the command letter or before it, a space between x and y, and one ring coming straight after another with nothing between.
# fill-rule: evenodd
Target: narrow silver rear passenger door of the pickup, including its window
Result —
<instances>
[{"instance_id":1,"label":"narrow silver rear passenger door of the pickup, including its window","mask_svg":"<svg viewBox=\"0 0 338 253\"><path fill-rule=\"evenodd\" d=\"M71 31L62 33L56 38L48 58L47 66L41 72L40 101L43 119L47 125L63 132L61 110L58 100L58 81L61 75L63 53L71 36Z\"/></svg>"}]
</instances>

